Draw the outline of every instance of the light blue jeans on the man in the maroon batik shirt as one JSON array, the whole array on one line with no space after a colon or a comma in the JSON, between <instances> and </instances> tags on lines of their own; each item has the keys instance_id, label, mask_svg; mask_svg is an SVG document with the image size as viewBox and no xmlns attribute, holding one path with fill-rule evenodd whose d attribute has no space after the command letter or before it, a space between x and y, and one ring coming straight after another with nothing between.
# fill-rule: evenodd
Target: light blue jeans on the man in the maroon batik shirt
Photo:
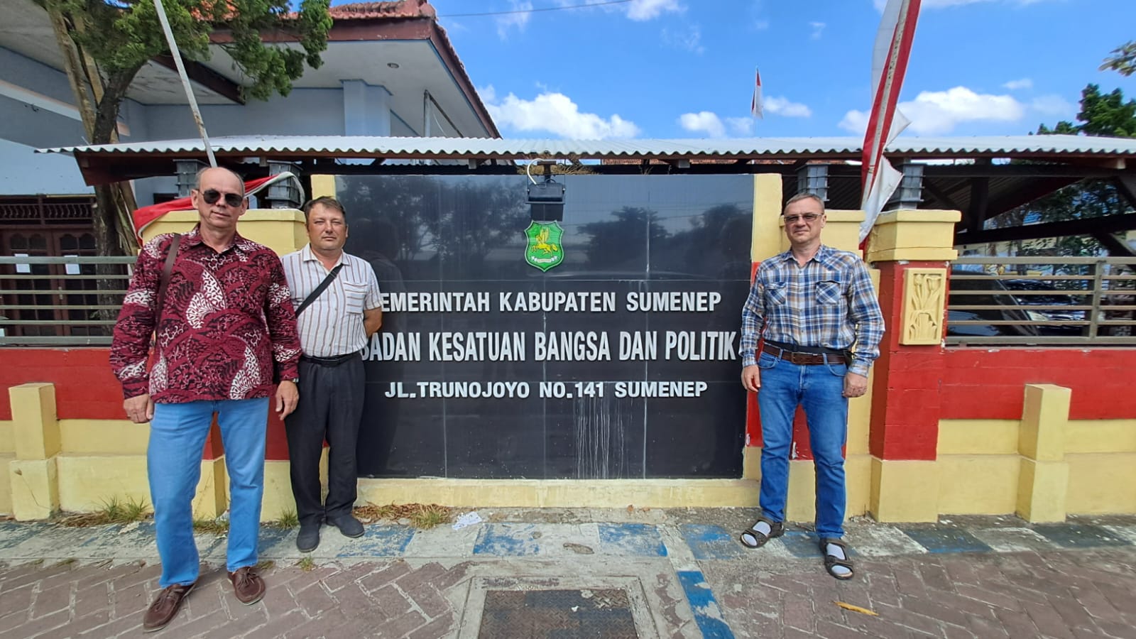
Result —
<instances>
[{"instance_id":1,"label":"light blue jeans on the man in the maroon batik shirt","mask_svg":"<svg viewBox=\"0 0 1136 639\"><path fill-rule=\"evenodd\" d=\"M156 404L147 448L147 476L153 501L161 579L158 586L187 586L198 579L193 542L193 496L201 454L217 413L228 470L229 572L256 565L260 501L265 492L265 437L268 398Z\"/></svg>"}]
</instances>

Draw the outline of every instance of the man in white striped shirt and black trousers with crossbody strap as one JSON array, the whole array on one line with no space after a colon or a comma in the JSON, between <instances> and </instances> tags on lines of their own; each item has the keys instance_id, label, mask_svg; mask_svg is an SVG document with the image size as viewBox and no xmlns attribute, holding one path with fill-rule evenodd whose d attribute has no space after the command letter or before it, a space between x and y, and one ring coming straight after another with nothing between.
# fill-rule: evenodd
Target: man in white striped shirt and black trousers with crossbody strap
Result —
<instances>
[{"instance_id":1,"label":"man in white striped shirt and black trousers with crossbody strap","mask_svg":"<svg viewBox=\"0 0 1136 639\"><path fill-rule=\"evenodd\" d=\"M346 213L335 198L316 198L303 207L308 244L284 256L292 304L301 304L339 268L329 285L296 316L300 332L300 397L284 421L291 459L292 495L303 553L319 546L327 523L346 537L360 537L352 514L357 496L356 442L362 418L365 376L359 351L383 323L375 271L343 252ZM327 501L320 499L319 457L328 443Z\"/></svg>"}]
</instances>

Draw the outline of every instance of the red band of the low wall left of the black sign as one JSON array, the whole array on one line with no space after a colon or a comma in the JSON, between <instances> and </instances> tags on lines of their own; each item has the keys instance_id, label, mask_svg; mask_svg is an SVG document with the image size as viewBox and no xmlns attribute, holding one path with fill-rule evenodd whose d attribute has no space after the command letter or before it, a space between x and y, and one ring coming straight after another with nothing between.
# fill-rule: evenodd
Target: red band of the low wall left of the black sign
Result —
<instances>
[{"instance_id":1,"label":"red band of the low wall left of the black sign","mask_svg":"<svg viewBox=\"0 0 1136 639\"><path fill-rule=\"evenodd\" d=\"M110 372L108 348L0 348L0 420L11 420L7 389L31 382L56 384L60 420L125 420L123 387ZM287 459L284 424L269 400L267 459ZM207 459L222 455L216 424L206 442Z\"/></svg>"}]
</instances>

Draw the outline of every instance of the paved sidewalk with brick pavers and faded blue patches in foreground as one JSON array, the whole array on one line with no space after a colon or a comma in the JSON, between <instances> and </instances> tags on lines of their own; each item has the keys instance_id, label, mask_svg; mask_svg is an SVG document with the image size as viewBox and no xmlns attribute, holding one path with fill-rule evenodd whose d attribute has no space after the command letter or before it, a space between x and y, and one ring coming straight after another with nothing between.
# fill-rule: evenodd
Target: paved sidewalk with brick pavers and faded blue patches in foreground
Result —
<instances>
[{"instance_id":1,"label":"paved sidewalk with brick pavers and faded blue patches in foreground","mask_svg":"<svg viewBox=\"0 0 1136 639\"><path fill-rule=\"evenodd\" d=\"M294 530L265 528L253 606L225 579L224 537L199 534L201 581L156 637L1136 638L1134 517L853 521L857 579L840 582L801 528L742 547L752 509L477 514L359 539L325 526L310 561ZM148 522L2 522L0 639L137 637L157 574Z\"/></svg>"}]
</instances>

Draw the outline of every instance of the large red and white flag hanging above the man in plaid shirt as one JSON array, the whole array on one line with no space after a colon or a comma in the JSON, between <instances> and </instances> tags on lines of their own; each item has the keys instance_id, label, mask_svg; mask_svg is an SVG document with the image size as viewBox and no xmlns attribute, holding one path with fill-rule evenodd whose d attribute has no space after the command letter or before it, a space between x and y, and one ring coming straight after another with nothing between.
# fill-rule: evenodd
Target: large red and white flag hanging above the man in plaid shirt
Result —
<instances>
[{"instance_id":1,"label":"large red and white flag hanging above the man in plaid shirt","mask_svg":"<svg viewBox=\"0 0 1136 639\"><path fill-rule=\"evenodd\" d=\"M921 0L887 0L876 32L871 60L871 85L875 91L868 131L863 136L860 167L864 221L860 225L860 246L871 232L879 211L900 185L903 174L884 157L884 149L908 127L910 121L895 108L903 86L903 75L911 57Z\"/></svg>"}]
</instances>

